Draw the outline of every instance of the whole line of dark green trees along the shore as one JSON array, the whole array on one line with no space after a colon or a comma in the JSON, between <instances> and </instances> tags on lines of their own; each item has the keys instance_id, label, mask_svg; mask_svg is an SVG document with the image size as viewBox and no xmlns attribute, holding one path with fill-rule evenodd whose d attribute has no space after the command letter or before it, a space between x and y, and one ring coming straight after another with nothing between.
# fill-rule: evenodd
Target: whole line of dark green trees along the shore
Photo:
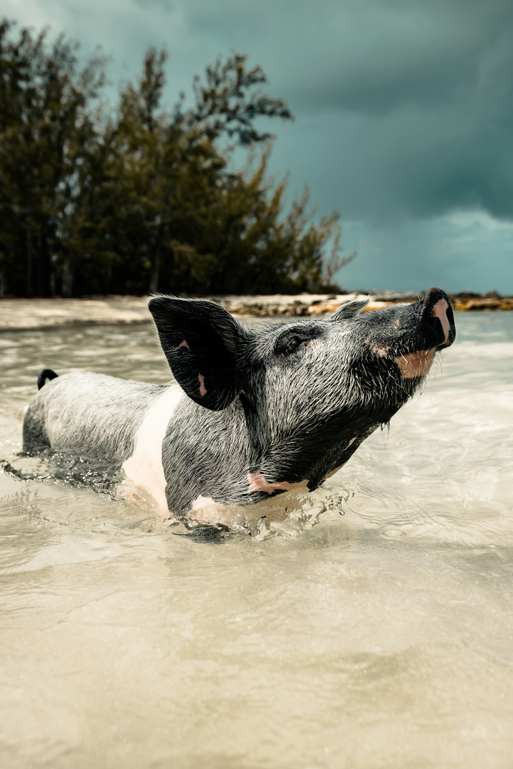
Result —
<instances>
[{"instance_id":1,"label":"whole line of dark green trees along the shore","mask_svg":"<svg viewBox=\"0 0 513 769\"><path fill-rule=\"evenodd\" d=\"M314 223L308 191L285 206L286 179L266 176L260 118L291 113L260 67L219 60L166 111L165 52L148 50L115 107L105 58L80 61L64 36L0 22L1 294L334 288L338 215Z\"/></svg>"}]
</instances>

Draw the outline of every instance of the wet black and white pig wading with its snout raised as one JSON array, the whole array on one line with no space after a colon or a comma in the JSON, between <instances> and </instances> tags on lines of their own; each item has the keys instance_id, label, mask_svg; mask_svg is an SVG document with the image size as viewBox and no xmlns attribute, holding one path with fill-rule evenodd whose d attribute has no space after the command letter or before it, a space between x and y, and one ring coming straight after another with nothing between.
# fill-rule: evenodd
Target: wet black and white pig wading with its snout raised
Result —
<instances>
[{"instance_id":1,"label":"wet black and white pig wading with its snout raised","mask_svg":"<svg viewBox=\"0 0 513 769\"><path fill-rule=\"evenodd\" d=\"M45 370L24 449L106 459L160 508L200 518L205 506L311 491L391 419L455 340L438 288L360 314L365 304L250 329L214 301L154 296L148 307L178 384Z\"/></svg>"}]
</instances>

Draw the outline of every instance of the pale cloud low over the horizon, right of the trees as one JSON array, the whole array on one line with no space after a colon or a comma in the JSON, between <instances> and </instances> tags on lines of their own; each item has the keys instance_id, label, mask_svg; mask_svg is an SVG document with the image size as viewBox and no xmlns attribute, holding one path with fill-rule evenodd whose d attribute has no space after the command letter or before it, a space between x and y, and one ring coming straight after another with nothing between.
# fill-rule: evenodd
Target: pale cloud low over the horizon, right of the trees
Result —
<instances>
[{"instance_id":1,"label":"pale cloud low over the horizon, right of the trees","mask_svg":"<svg viewBox=\"0 0 513 769\"><path fill-rule=\"evenodd\" d=\"M358 258L338 275L341 285L365 291L513 289L513 223L479 211L455 211L395 225L348 222L346 251Z\"/></svg>"}]
</instances>

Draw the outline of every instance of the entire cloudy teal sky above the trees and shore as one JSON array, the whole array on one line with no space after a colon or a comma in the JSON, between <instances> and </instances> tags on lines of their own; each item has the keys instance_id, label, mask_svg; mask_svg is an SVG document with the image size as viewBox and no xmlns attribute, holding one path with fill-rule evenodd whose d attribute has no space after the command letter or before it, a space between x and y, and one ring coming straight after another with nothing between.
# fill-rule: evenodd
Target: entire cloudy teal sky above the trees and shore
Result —
<instances>
[{"instance_id":1,"label":"entire cloudy teal sky above the trees and shore","mask_svg":"<svg viewBox=\"0 0 513 769\"><path fill-rule=\"evenodd\" d=\"M513 0L0 0L135 78L168 51L166 99L219 55L248 55L294 122L270 170L339 211L350 291L513 295ZM115 85L112 85L115 88Z\"/></svg>"}]
</instances>

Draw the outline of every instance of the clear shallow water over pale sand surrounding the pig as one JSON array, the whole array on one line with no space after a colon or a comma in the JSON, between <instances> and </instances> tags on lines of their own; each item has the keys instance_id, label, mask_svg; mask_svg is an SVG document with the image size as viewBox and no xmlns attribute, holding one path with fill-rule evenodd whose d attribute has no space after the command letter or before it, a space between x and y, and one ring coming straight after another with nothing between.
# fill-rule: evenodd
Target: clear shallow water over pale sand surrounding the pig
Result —
<instances>
[{"instance_id":1,"label":"clear shallow water over pale sand surrounding the pig","mask_svg":"<svg viewBox=\"0 0 513 769\"><path fill-rule=\"evenodd\" d=\"M513 313L456 324L315 526L198 541L0 474L0 765L511 769ZM0 351L0 458L46 366L169 379L149 326Z\"/></svg>"}]
</instances>

